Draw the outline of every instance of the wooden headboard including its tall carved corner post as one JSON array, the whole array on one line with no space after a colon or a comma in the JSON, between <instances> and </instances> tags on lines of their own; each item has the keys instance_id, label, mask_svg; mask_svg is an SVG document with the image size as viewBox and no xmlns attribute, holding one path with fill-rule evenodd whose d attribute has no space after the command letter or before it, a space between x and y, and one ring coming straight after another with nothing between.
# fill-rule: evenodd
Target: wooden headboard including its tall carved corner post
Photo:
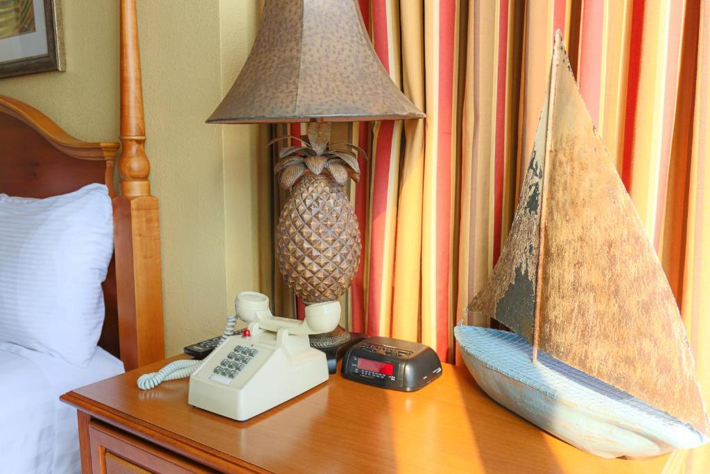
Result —
<instances>
[{"instance_id":1,"label":"wooden headboard including its tall carved corner post","mask_svg":"<svg viewBox=\"0 0 710 474\"><path fill-rule=\"evenodd\" d=\"M106 319L99 345L126 370L163 359L163 300L158 200L143 144L141 60L136 0L121 0L121 156L119 144L67 134L28 104L0 95L0 193L31 198L70 193L89 183L109 187L114 207L114 258L104 282Z\"/></svg>"}]
</instances>

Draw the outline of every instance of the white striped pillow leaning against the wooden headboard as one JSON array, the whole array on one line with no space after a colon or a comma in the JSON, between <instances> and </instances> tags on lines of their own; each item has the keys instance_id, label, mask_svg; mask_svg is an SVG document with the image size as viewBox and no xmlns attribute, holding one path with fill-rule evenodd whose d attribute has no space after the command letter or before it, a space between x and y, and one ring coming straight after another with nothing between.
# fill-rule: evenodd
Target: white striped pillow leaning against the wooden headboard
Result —
<instances>
[{"instance_id":1,"label":"white striped pillow leaning against the wooden headboard","mask_svg":"<svg viewBox=\"0 0 710 474\"><path fill-rule=\"evenodd\" d=\"M0 194L0 342L87 365L104 323L113 228L102 184L46 199Z\"/></svg>"}]
</instances>

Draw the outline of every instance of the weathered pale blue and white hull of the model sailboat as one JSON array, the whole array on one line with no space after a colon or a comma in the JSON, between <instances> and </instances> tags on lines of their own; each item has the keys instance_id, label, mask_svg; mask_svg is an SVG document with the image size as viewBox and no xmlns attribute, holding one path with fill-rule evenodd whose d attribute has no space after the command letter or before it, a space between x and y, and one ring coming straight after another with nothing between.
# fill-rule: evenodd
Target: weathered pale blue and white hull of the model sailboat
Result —
<instances>
[{"instance_id":1,"label":"weathered pale blue and white hull of the model sailboat","mask_svg":"<svg viewBox=\"0 0 710 474\"><path fill-rule=\"evenodd\" d=\"M515 333L459 325L461 355L499 404L577 448L603 458L648 458L699 446L688 424L532 346ZM620 369L621 370L621 369Z\"/></svg>"}]
</instances>

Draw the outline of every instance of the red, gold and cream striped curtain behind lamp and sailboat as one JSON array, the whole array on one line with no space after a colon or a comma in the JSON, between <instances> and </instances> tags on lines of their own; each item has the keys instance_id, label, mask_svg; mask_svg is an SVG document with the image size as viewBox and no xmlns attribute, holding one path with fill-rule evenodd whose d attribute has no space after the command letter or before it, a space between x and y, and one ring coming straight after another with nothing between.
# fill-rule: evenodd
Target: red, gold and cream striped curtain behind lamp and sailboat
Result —
<instances>
[{"instance_id":1,"label":"red, gold and cream striped curtain behind lamp and sailboat","mask_svg":"<svg viewBox=\"0 0 710 474\"><path fill-rule=\"evenodd\" d=\"M710 402L710 0L359 4L381 62L427 118L339 132L370 155L349 188L364 239L349 328L455 360L452 327L506 242L559 29ZM673 459L705 472L702 453Z\"/></svg>"}]
</instances>

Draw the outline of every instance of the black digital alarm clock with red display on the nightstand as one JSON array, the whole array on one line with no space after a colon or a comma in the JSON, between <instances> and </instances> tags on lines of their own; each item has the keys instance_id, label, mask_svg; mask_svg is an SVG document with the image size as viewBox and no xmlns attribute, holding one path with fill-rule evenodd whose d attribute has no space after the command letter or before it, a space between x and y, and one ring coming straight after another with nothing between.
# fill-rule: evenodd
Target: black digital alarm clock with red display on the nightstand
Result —
<instances>
[{"instance_id":1,"label":"black digital alarm clock with red display on the nightstand","mask_svg":"<svg viewBox=\"0 0 710 474\"><path fill-rule=\"evenodd\" d=\"M345 353L343 377L386 389L414 392L437 379L442 365L424 344L392 338L368 338Z\"/></svg>"}]
</instances>

